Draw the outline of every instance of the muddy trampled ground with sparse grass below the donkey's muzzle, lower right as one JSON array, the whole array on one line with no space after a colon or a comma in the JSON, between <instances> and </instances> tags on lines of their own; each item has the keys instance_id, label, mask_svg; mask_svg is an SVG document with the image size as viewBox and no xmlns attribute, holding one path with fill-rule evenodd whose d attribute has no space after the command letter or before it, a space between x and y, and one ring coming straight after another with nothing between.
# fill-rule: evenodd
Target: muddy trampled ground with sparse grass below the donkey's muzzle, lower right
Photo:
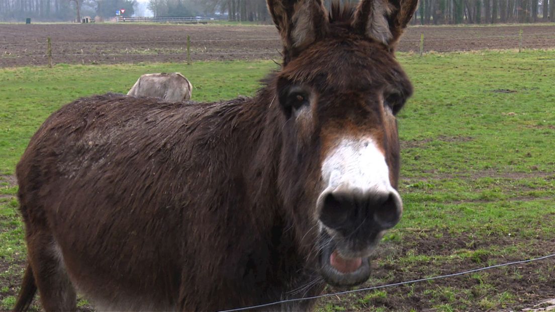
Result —
<instances>
[{"instance_id":1,"label":"muddy trampled ground with sparse grass below the donkey's muzzle, lower right","mask_svg":"<svg viewBox=\"0 0 555 312\"><path fill-rule=\"evenodd\" d=\"M553 218L555 220L555 218ZM441 237L437 237L441 236ZM383 244L381 254L378 259L396 258L397 256L413 253L415 256L447 256L456 250L483 250L491 245L509 246L518 244L528 244L528 248L523 250L529 258L544 256L546 250L552 250L553 241L527 240L519 238L507 238L504 236L492 235L488 240L475 240L473 234L453 235L448 232L416 232L413 236L405 236L401 246L393 244ZM375 273L372 279L380 280L380 283L369 283L367 286L378 286L385 284L395 284L404 281L412 281L425 277L448 275L467 270L483 268L488 263L509 263L521 261L522 253L507 254L504 256L492 254L479 254L478 256L464 260L457 259L452 263L443 263L439 266L430 267L425 261L415 264L411 268L403 268L395 261L391 263L374 264L372 268ZM471 273L448 278L436 279L433 281L422 281L418 283L392 286L384 289L386 296L372 296L372 291L366 291L359 296L330 296L323 299L321 304L327 303L332 306L352 306L357 310L374 311L377 308L387 311L408 311L416 309L418 311L442 311L445 308L433 308L438 303L449 303L451 306L466 306L465 310L470 311L522 311L523 309L533 308L538 303L555 296L555 258L548 258L537 262L516 264L501 268L481 271L481 273ZM384 283L383 280L386 280ZM438 291L443 289L444 291ZM448 291L452 290L452 293ZM471 294L465 294L461 289L471 290ZM435 290L435 291L430 291ZM447 291L445 291L447 290ZM329 289L328 292L337 291ZM483 299L499 296L503 293L510 293L513 296L505 299L502 304L492 304L492 308L485 308ZM366 296L366 302L361 303L361 297ZM470 298L469 298L470 297ZM362 309L361 309L362 308ZM349 310L347 308L347 310Z\"/></svg>"}]
</instances>

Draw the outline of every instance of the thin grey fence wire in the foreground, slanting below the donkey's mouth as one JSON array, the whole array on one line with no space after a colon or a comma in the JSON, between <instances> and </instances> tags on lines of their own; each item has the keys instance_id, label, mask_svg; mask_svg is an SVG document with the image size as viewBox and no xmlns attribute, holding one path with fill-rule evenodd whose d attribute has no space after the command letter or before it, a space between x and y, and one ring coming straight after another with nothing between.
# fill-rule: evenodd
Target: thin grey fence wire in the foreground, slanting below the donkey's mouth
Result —
<instances>
[{"instance_id":1,"label":"thin grey fence wire in the foreground, slanting below the donkey's mouth","mask_svg":"<svg viewBox=\"0 0 555 312\"><path fill-rule=\"evenodd\" d=\"M264 308L264 307L266 307L266 306L271 306L271 305L276 305L276 304L291 303L291 302L302 301L302 300L319 299L319 298L324 298L324 297L329 297L329 296L338 296L338 295L359 293L359 292L361 292L361 291L368 291L368 290L374 290L374 289L380 289L380 288L386 288L386 287L392 287L392 286L400 286L400 285L406 285L406 284L413 284L413 283L418 283L418 282L421 282L421 281L428 281L428 280L436 280L436 279L450 278L450 277L453 277L453 276L465 275L465 274L475 273L475 272L479 272L479 271L483 271L483 270L490 270L490 269L494 269L494 268L500 268L500 267L502 267L502 266L508 266L508 265L522 264L522 263L529 263L529 262L533 262L533 261L544 260L544 259L551 258L551 257L555 257L555 254L549 254L549 255L546 255L546 256L541 256L541 257L539 257L539 258L533 258L533 259L528 259L528 260L513 261L513 262L508 262L508 263L490 265L490 266L486 266L485 268L478 268L478 269L473 269L473 270L468 270L468 271L462 271L462 272L459 272L459 273L452 273L452 274L446 274L446 275L433 276L433 277L431 277L431 278L421 278L421 279L415 279L415 280L409 280L409 281L402 281L402 282L400 282L400 283L393 283L393 284L372 286L372 287L360 288L360 289L354 289L354 290L346 290L346 291L340 291L340 292L338 292L338 293L323 294L323 295L310 296L310 297L305 297L305 298L286 299L286 300L275 301L275 302L273 302L273 303L266 303L266 304L259 304L259 305L251 305L251 306L245 306L245 307L243 307L243 308L222 310L222 311L220 311L220 312L234 312L234 311L243 311L243 310L250 310L250 309L258 309L258 308Z\"/></svg>"}]
</instances>

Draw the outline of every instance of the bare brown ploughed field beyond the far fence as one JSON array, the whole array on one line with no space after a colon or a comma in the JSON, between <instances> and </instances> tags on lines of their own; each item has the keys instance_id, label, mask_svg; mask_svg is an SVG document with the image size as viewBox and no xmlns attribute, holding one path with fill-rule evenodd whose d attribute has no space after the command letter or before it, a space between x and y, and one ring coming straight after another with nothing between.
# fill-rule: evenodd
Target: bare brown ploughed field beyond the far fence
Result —
<instances>
[{"instance_id":1,"label":"bare brown ploughed field beyond the far fence","mask_svg":"<svg viewBox=\"0 0 555 312\"><path fill-rule=\"evenodd\" d=\"M398 51L418 52L420 34L428 51L468 51L555 47L555 25L410 27ZM47 64L47 37L54 63L137 63L201 60L279 59L281 43L274 26L152 24L0 24L0 67Z\"/></svg>"}]
</instances>

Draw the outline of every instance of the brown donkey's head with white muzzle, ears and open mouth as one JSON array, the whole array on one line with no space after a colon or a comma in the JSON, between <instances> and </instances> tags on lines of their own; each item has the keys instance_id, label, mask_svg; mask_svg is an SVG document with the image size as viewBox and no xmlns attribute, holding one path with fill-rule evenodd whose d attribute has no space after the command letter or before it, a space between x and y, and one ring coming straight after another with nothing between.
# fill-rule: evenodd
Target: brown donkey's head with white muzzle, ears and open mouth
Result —
<instances>
[{"instance_id":1,"label":"brown donkey's head with white muzzle, ears and open mouth","mask_svg":"<svg viewBox=\"0 0 555 312\"><path fill-rule=\"evenodd\" d=\"M284 44L281 192L330 284L365 281L369 255L401 218L395 114L412 87L393 49L416 4L362 0L328 13L322 0L268 0Z\"/></svg>"}]
</instances>

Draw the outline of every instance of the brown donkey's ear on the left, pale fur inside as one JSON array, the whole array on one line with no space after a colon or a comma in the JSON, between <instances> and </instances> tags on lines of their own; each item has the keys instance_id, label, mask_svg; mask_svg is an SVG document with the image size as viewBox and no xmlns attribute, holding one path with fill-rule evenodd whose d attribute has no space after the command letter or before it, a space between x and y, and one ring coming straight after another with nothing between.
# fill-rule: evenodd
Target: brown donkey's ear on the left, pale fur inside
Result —
<instances>
[{"instance_id":1,"label":"brown donkey's ear on the left, pale fur inside","mask_svg":"<svg viewBox=\"0 0 555 312\"><path fill-rule=\"evenodd\" d=\"M324 36L328 22L322 0L267 0L284 45L284 57Z\"/></svg>"}]
</instances>

